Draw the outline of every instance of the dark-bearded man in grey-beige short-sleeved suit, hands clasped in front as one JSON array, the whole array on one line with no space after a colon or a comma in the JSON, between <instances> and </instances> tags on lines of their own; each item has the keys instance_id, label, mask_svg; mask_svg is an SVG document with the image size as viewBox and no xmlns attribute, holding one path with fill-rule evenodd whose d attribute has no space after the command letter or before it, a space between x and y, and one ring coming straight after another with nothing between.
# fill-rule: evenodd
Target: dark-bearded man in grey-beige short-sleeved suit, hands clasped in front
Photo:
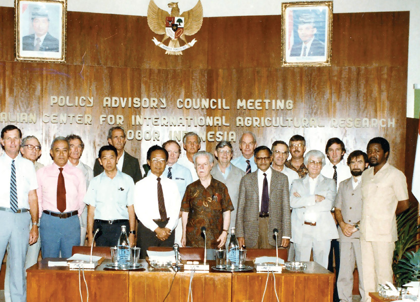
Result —
<instances>
[{"instance_id":1,"label":"dark-bearded man in grey-beige short-sleeved suit, hands clasped in front","mask_svg":"<svg viewBox=\"0 0 420 302\"><path fill-rule=\"evenodd\" d=\"M352 302L353 271L355 263L359 272L359 292L365 300L362 278L362 252L360 249L359 222L362 218L362 190L360 181L368 167L368 155L360 150L347 158L352 177L343 180L335 198L335 218L339 224L340 270L337 278L337 292L340 302Z\"/></svg>"}]
</instances>

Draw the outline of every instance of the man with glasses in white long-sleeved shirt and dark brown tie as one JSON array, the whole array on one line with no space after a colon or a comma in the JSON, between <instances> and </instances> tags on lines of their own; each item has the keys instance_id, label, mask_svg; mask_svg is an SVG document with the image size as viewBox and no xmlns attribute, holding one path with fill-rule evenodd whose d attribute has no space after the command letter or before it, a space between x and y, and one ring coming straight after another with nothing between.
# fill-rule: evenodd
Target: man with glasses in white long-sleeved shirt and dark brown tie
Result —
<instances>
[{"instance_id":1,"label":"man with glasses in white long-sleeved shirt and dark brown tie","mask_svg":"<svg viewBox=\"0 0 420 302\"><path fill-rule=\"evenodd\" d=\"M174 229L178 224L181 197L174 180L163 177L168 151L152 146L147 151L151 173L139 181L134 189L134 209L139 219L137 246L140 257L147 256L149 247L172 247Z\"/></svg>"}]
</instances>

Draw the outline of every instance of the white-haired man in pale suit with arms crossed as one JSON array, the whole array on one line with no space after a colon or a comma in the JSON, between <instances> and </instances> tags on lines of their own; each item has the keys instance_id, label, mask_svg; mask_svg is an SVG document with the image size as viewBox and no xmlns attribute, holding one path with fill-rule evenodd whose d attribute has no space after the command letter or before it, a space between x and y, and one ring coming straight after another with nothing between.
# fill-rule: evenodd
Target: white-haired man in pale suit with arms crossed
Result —
<instances>
[{"instance_id":1,"label":"white-haired man in pale suit with arms crossed","mask_svg":"<svg viewBox=\"0 0 420 302\"><path fill-rule=\"evenodd\" d=\"M327 268L331 240L338 238L330 213L336 195L335 182L320 174L325 165L321 151L309 151L304 162L308 175L294 180L290 188L295 260L309 261L313 251L315 262Z\"/></svg>"}]
</instances>

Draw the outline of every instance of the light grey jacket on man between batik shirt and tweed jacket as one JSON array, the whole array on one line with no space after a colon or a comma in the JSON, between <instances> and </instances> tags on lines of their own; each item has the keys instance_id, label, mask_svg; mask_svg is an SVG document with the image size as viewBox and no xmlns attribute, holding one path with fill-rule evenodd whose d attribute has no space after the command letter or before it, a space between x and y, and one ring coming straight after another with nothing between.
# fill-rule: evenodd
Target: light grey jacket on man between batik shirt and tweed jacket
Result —
<instances>
[{"instance_id":1,"label":"light grey jacket on man between batik shirt and tweed jacket","mask_svg":"<svg viewBox=\"0 0 420 302\"><path fill-rule=\"evenodd\" d=\"M211 176L214 177L214 179L222 182L227 187L227 192L229 193L230 200L232 201L233 207L237 210L238 208L238 196L239 196L239 185L241 183L242 177L245 175L245 172L239 169L237 166L230 163L231 170L229 174L227 175L226 179L224 179L222 172L220 172L218 164L215 163L213 168L211 169ZM230 212L230 226L235 226L235 220L236 220L236 212L235 215L232 214L233 212Z\"/></svg>"}]
</instances>

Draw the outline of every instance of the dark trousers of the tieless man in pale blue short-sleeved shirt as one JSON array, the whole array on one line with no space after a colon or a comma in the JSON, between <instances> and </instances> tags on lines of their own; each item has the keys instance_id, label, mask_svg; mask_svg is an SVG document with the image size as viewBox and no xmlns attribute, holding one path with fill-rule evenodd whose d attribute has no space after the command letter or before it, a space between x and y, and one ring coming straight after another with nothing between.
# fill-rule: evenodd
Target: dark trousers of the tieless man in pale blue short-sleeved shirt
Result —
<instances>
[{"instance_id":1,"label":"dark trousers of the tieless man in pale blue short-sleeved shirt","mask_svg":"<svg viewBox=\"0 0 420 302\"><path fill-rule=\"evenodd\" d=\"M123 225L126 226L128 236L128 231L130 230L130 224L128 220L113 224L95 220L93 223L93 230L95 232L96 229L99 229L99 233L95 237L96 246L116 247L118 245L119 236L121 235L121 226Z\"/></svg>"}]
</instances>

